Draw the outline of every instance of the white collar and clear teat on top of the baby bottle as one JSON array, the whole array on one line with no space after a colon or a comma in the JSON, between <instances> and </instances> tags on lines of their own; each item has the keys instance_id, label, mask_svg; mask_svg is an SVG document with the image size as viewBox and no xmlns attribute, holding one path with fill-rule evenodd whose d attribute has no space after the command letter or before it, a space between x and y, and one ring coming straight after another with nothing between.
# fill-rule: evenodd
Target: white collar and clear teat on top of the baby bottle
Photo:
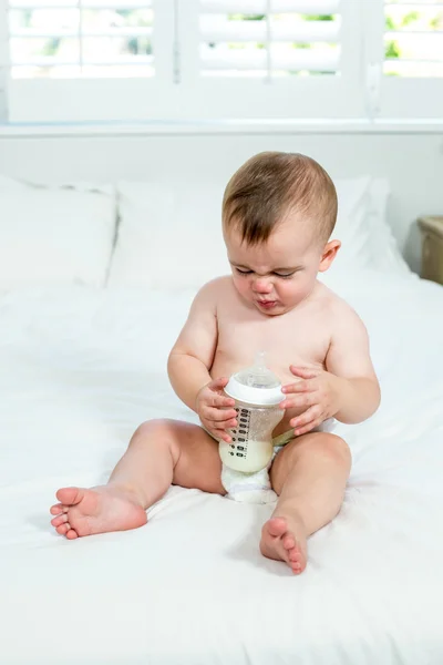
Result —
<instances>
[{"instance_id":1,"label":"white collar and clear teat on top of the baby bottle","mask_svg":"<svg viewBox=\"0 0 443 665\"><path fill-rule=\"evenodd\" d=\"M225 392L234 399L259 407L272 407L285 399L280 379L266 367L264 351L257 354L253 367L240 369L230 377Z\"/></svg>"}]
</instances>

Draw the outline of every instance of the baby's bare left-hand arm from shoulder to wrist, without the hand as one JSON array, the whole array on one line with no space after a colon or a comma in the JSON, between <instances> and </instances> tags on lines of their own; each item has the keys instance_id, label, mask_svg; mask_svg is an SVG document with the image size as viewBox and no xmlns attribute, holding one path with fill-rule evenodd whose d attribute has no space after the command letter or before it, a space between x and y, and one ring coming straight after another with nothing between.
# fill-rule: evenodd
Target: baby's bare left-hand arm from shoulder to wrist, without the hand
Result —
<instances>
[{"instance_id":1,"label":"baby's bare left-hand arm from shoulder to wrist, without the hand","mask_svg":"<svg viewBox=\"0 0 443 665\"><path fill-rule=\"evenodd\" d=\"M216 296L213 282L198 291L167 362L172 387L193 411L198 391L210 381L217 345Z\"/></svg>"}]
</instances>

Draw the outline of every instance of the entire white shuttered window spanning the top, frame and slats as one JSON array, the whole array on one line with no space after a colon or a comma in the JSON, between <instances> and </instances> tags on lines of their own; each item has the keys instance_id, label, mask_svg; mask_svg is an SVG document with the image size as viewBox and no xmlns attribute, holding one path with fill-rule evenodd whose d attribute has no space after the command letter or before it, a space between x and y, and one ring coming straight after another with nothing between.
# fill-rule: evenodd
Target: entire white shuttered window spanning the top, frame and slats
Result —
<instances>
[{"instance_id":1,"label":"entire white shuttered window spanning the top, frame and slats","mask_svg":"<svg viewBox=\"0 0 443 665\"><path fill-rule=\"evenodd\" d=\"M443 115L443 0L3 2L14 122Z\"/></svg>"}]
</instances>

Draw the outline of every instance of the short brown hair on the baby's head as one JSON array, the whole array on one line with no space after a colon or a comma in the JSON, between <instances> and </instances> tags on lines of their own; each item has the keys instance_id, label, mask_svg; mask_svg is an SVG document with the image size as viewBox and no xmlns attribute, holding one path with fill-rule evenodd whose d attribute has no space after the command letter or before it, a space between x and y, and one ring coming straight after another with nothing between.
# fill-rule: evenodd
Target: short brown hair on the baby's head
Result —
<instances>
[{"instance_id":1,"label":"short brown hair on the baby's head","mask_svg":"<svg viewBox=\"0 0 443 665\"><path fill-rule=\"evenodd\" d=\"M236 227L248 245L266 242L289 213L327 242L337 221L337 192L315 160L298 153L262 152L228 182L223 198L225 229Z\"/></svg>"}]
</instances>

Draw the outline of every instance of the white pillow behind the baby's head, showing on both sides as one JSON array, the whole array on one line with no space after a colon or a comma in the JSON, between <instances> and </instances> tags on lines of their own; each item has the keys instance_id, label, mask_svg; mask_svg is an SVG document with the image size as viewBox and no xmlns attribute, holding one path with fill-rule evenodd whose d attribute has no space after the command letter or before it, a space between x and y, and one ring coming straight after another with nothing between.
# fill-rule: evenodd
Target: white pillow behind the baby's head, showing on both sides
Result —
<instances>
[{"instance_id":1,"label":"white pillow behind the baby's head, showing on both sides","mask_svg":"<svg viewBox=\"0 0 443 665\"><path fill-rule=\"evenodd\" d=\"M342 247L332 269L405 266L385 223L387 187L370 176L334 183L339 214L331 237ZM229 273L222 235L224 187L197 181L120 183L109 285L194 288Z\"/></svg>"}]
</instances>

